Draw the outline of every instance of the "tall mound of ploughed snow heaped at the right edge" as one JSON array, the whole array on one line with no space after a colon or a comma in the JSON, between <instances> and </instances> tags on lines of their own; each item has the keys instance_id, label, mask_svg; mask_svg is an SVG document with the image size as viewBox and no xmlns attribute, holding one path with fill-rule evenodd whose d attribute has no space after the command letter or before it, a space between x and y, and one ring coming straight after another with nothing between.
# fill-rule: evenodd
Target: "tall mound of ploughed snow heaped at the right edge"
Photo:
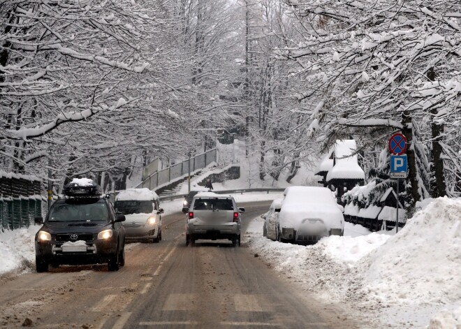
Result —
<instances>
[{"instance_id":1,"label":"tall mound of ploughed snow heaped at the right edge","mask_svg":"<svg viewBox=\"0 0 461 329\"><path fill-rule=\"evenodd\" d=\"M409 219L358 265L367 295L388 303L460 302L460 214L460 200L438 198Z\"/></svg>"}]
</instances>

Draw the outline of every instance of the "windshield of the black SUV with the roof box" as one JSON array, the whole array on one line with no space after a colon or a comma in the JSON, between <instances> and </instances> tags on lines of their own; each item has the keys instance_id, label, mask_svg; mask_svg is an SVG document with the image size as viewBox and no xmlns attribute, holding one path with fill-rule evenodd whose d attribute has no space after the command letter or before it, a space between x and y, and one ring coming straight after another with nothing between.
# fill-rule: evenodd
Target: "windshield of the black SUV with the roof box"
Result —
<instances>
[{"instance_id":1,"label":"windshield of the black SUV with the roof box","mask_svg":"<svg viewBox=\"0 0 461 329\"><path fill-rule=\"evenodd\" d=\"M109 212L104 200L75 198L54 204L48 221L108 221Z\"/></svg>"}]
</instances>

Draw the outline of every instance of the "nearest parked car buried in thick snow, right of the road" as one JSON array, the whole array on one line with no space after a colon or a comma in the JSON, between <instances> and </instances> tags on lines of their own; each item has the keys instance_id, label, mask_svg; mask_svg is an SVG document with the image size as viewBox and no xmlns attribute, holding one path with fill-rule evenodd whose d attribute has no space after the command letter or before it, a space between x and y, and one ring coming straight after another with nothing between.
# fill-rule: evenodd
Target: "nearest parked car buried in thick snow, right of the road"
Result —
<instances>
[{"instance_id":1,"label":"nearest parked car buried in thick snow, right of the road","mask_svg":"<svg viewBox=\"0 0 461 329\"><path fill-rule=\"evenodd\" d=\"M277 240L316 242L343 235L343 207L325 187L287 187L278 217Z\"/></svg>"}]
</instances>

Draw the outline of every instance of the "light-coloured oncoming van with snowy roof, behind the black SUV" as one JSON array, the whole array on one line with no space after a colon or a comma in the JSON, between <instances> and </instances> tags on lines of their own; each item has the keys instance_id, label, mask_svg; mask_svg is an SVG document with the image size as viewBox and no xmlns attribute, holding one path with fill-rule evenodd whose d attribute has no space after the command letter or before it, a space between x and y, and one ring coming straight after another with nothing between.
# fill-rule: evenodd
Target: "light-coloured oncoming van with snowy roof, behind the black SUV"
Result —
<instances>
[{"instance_id":1,"label":"light-coloured oncoming van with snowy roof, behind the black SUV","mask_svg":"<svg viewBox=\"0 0 461 329\"><path fill-rule=\"evenodd\" d=\"M126 189L115 196L115 212L124 214L127 240L161 240L161 214L159 196L149 189Z\"/></svg>"}]
</instances>

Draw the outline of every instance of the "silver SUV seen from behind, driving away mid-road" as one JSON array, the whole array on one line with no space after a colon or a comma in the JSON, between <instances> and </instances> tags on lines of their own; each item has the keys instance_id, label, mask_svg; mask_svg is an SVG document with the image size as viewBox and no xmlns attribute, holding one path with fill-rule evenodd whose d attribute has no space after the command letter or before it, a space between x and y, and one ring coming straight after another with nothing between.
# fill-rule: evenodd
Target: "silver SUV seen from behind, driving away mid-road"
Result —
<instances>
[{"instance_id":1,"label":"silver SUV seen from behind, driving away mid-road","mask_svg":"<svg viewBox=\"0 0 461 329\"><path fill-rule=\"evenodd\" d=\"M196 240L231 240L240 246L240 214L232 196L220 196L212 192L200 192L193 197L190 207L183 207L187 214L186 245Z\"/></svg>"}]
</instances>

